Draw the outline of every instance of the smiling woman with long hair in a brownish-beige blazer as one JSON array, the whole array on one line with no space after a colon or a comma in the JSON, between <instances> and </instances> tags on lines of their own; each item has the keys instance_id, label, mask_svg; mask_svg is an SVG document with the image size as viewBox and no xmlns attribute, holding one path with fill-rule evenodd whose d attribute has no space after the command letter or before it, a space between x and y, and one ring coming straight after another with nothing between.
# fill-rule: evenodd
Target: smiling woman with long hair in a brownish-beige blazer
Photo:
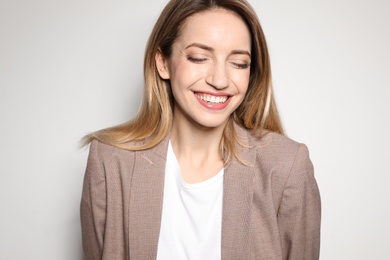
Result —
<instances>
[{"instance_id":1,"label":"smiling woman with long hair in a brownish-beige blazer","mask_svg":"<svg viewBox=\"0 0 390 260\"><path fill-rule=\"evenodd\" d=\"M87 259L318 259L307 148L283 135L245 0L171 0L132 121L87 136Z\"/></svg>"}]
</instances>

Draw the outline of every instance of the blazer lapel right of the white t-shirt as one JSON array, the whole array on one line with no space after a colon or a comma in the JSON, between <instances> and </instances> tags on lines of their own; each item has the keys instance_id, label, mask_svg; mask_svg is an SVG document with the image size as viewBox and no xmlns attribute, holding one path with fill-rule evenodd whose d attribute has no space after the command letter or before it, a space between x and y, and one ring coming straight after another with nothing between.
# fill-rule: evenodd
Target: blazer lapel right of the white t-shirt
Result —
<instances>
[{"instance_id":1,"label":"blazer lapel right of the white t-shirt","mask_svg":"<svg viewBox=\"0 0 390 260\"><path fill-rule=\"evenodd\" d=\"M246 133L237 129L237 133ZM249 144L246 144L249 145ZM251 149L238 147L241 159L253 164ZM254 188L255 167L232 160L225 169L222 212L222 259L249 259L249 222Z\"/></svg>"}]
</instances>

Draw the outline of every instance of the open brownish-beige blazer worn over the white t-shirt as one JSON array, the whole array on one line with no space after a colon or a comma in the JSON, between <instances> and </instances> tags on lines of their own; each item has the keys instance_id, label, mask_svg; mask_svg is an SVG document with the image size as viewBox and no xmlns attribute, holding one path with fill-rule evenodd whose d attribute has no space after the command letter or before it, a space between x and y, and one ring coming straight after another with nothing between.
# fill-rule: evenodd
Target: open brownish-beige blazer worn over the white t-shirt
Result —
<instances>
[{"instance_id":1,"label":"open brownish-beige blazer worn over the white t-shirt","mask_svg":"<svg viewBox=\"0 0 390 260\"><path fill-rule=\"evenodd\" d=\"M238 135L252 165L225 168L222 259L318 259L320 195L306 146ZM86 259L156 259L168 140L145 151L92 142L81 199Z\"/></svg>"}]
</instances>

